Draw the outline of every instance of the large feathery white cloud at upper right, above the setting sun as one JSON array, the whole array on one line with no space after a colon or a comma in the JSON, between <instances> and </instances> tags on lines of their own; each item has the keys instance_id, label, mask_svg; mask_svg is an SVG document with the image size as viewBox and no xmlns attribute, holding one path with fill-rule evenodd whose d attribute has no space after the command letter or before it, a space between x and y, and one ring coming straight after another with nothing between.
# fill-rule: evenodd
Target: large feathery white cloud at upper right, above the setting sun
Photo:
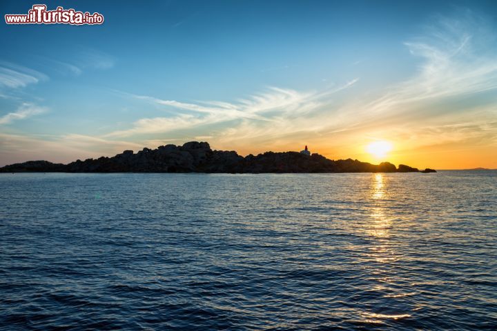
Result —
<instances>
[{"instance_id":1,"label":"large feathery white cloud at upper right, above the setting sun","mask_svg":"<svg viewBox=\"0 0 497 331\"><path fill-rule=\"evenodd\" d=\"M409 105L478 94L497 88L494 30L469 10L436 17L426 34L405 42L422 59L418 73L367 105L369 112L409 111ZM488 29L488 30L487 30ZM416 106L416 105L415 105Z\"/></svg>"}]
</instances>

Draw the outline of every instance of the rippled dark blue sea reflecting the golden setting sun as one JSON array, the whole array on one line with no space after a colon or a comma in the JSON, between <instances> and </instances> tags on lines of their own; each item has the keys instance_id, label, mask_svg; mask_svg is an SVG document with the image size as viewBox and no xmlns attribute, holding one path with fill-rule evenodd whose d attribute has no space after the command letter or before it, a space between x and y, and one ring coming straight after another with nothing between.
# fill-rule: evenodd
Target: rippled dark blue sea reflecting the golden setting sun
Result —
<instances>
[{"instance_id":1,"label":"rippled dark blue sea reflecting the golden setting sun","mask_svg":"<svg viewBox=\"0 0 497 331\"><path fill-rule=\"evenodd\" d=\"M497 172L1 174L1 330L497 330Z\"/></svg>"}]
</instances>

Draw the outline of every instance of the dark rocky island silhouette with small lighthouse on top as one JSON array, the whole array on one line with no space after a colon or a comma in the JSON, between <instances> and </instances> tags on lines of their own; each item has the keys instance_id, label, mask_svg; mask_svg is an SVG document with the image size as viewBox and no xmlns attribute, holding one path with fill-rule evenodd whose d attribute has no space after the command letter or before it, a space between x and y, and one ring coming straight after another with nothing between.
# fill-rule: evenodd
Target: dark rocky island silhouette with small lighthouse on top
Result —
<instances>
[{"instance_id":1,"label":"dark rocky island silhouette with small lighthouse on top","mask_svg":"<svg viewBox=\"0 0 497 331\"><path fill-rule=\"evenodd\" d=\"M125 150L115 157L77 160L68 164L28 161L0 168L0 172L205 172L205 173L286 173L286 172L436 172L418 170L389 162L378 165L353 159L330 160L320 154L265 152L242 157L235 151L211 150L206 142L191 141L183 146L144 148L137 153Z\"/></svg>"}]
</instances>

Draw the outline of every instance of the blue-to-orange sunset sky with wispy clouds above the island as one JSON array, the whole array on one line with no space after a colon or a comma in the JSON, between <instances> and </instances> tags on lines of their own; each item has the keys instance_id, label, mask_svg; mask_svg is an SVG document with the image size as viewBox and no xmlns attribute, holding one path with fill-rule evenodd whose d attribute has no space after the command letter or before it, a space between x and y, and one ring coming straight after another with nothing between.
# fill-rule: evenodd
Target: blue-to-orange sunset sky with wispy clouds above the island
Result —
<instances>
[{"instance_id":1,"label":"blue-to-orange sunset sky with wispy clouds above the island","mask_svg":"<svg viewBox=\"0 0 497 331\"><path fill-rule=\"evenodd\" d=\"M43 3L105 21L2 19L0 166L208 141L497 168L497 1Z\"/></svg>"}]
</instances>

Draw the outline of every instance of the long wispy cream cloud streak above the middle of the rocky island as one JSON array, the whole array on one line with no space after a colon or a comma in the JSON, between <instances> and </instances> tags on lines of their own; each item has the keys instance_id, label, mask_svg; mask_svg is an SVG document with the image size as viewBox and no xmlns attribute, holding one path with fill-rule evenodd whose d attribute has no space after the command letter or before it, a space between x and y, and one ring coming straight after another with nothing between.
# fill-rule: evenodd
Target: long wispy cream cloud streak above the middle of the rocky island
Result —
<instances>
[{"instance_id":1,"label":"long wispy cream cloud streak above the middle of the rocky island","mask_svg":"<svg viewBox=\"0 0 497 331\"><path fill-rule=\"evenodd\" d=\"M357 80L353 80L340 88L325 92L298 92L291 89L268 88L265 92L254 94L235 102L203 101L185 103L175 100L157 99L154 97L128 94L160 106L166 106L178 112L175 117L155 117L139 119L133 128L106 134L105 137L129 137L135 134L164 133L209 126L229 121L266 122L264 126L275 128L285 119L295 119L311 112L322 105L322 99L330 94L349 88ZM288 124L288 123L287 123ZM211 136L210 134L207 134Z\"/></svg>"}]
</instances>

